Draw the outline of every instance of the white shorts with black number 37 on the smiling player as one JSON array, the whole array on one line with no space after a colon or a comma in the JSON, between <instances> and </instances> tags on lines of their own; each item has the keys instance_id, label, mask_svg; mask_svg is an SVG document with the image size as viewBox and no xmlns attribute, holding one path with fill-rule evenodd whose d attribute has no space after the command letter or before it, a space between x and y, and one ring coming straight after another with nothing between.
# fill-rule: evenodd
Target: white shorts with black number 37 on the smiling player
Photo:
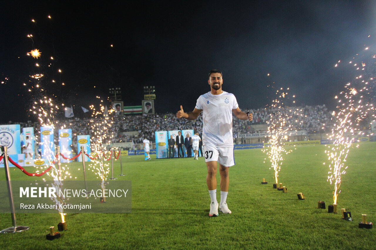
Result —
<instances>
[{"instance_id":1,"label":"white shorts with black number 37 on the smiling player","mask_svg":"<svg viewBox=\"0 0 376 250\"><path fill-rule=\"evenodd\" d=\"M205 162L218 161L219 164L225 167L235 165L234 148L218 148L213 145L204 145Z\"/></svg>"}]
</instances>

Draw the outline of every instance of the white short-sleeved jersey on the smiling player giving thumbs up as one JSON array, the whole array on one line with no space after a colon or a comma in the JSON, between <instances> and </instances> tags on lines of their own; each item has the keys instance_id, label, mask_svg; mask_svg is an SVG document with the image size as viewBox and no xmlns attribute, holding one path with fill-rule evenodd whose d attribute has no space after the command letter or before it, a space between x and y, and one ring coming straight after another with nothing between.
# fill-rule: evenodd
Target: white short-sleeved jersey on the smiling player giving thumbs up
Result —
<instances>
[{"instance_id":1,"label":"white short-sleeved jersey on the smiling player giving thumbs up","mask_svg":"<svg viewBox=\"0 0 376 250\"><path fill-rule=\"evenodd\" d=\"M233 147L232 110L238 102L231 93L220 95L208 92L197 99L196 108L202 110L202 144L220 148Z\"/></svg>"}]
</instances>

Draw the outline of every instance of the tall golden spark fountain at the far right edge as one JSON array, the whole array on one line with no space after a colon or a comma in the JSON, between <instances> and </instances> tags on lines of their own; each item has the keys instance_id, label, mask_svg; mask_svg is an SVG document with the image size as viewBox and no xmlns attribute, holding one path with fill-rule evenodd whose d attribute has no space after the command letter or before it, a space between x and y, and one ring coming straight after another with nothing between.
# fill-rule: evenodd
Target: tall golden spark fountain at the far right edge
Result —
<instances>
[{"instance_id":1,"label":"tall golden spark fountain at the far right edge","mask_svg":"<svg viewBox=\"0 0 376 250\"><path fill-rule=\"evenodd\" d=\"M368 48L365 50L368 50ZM372 60L373 58L373 56L367 56L365 59ZM368 99L372 99L372 96L370 98L372 93L370 84L374 83L373 76L367 75L365 70L368 63L365 61L361 63L350 61L350 64L355 66L356 70L363 72L362 75L355 77L353 83L347 83L344 86L345 90L340 93L340 96L335 96L335 99L338 99L338 106L337 111L332 112L334 127L332 128L332 134L329 136L329 140L333 142L333 145L327 146L328 149L325 151L329 161L327 181L331 185L334 184L334 205L337 205L338 195L341 193L341 176L346 173L348 167L346 166L346 158L353 142L355 142L355 137L364 136L365 133L361 130L364 121L370 119L370 117L374 119L374 114L372 114L374 107L368 101ZM356 145L356 147L358 146Z\"/></svg>"}]
</instances>

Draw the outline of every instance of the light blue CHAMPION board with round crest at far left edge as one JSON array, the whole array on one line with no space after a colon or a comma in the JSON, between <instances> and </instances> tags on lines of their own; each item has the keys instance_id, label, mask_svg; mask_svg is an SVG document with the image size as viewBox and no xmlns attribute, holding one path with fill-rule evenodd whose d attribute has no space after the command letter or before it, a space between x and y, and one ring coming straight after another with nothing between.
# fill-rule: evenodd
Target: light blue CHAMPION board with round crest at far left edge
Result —
<instances>
[{"instance_id":1,"label":"light blue CHAMPION board with round crest at far left edge","mask_svg":"<svg viewBox=\"0 0 376 250\"><path fill-rule=\"evenodd\" d=\"M8 155L21 154L20 125L0 125L0 146L6 146Z\"/></svg>"}]
</instances>

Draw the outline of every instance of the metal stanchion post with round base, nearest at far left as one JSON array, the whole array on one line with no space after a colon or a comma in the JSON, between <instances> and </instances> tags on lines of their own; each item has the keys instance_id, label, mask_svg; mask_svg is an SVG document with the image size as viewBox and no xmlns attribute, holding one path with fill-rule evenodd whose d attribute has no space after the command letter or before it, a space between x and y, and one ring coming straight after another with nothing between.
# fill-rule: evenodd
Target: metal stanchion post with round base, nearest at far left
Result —
<instances>
[{"instance_id":1,"label":"metal stanchion post with round base, nearest at far left","mask_svg":"<svg viewBox=\"0 0 376 250\"><path fill-rule=\"evenodd\" d=\"M6 146L1 147L1 151L4 152L4 169L5 169L5 177L6 177L6 184L8 185L8 196L9 196L9 205L11 206L11 215L12 215L12 227L8 227L0 231L0 233L17 233L22 232L29 229L28 226L17 226L16 224L16 215L14 209L14 200L13 200L13 193L12 193L12 183L11 183L11 175L9 173L9 163L8 163L8 154Z\"/></svg>"}]
</instances>

